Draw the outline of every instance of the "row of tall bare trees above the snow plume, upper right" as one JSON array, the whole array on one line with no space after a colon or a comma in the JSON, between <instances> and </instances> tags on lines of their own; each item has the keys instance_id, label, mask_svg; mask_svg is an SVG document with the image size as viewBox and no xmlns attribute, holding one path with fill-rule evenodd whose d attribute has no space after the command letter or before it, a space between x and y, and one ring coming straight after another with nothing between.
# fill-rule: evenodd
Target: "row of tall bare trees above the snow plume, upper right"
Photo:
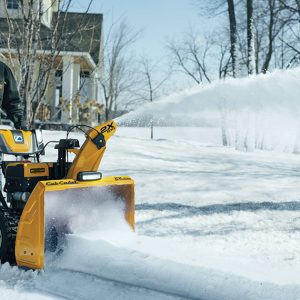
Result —
<instances>
[{"instance_id":1,"label":"row of tall bare trees above the snow plume, upper right","mask_svg":"<svg viewBox=\"0 0 300 300\"><path fill-rule=\"evenodd\" d=\"M200 84L217 76L241 77L299 65L300 0L195 0L195 3L200 13L215 17L221 25L211 34L201 32L207 36L205 42L187 35L182 41L168 45L175 65L194 82ZM193 48L190 44L194 44Z\"/></svg>"}]
</instances>

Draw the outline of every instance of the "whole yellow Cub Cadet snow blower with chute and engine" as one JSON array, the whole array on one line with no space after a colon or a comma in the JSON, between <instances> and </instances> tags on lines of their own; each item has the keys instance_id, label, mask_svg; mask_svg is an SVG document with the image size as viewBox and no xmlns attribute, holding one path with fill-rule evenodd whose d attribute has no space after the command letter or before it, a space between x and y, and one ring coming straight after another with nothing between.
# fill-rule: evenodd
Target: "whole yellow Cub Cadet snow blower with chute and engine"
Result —
<instances>
[{"instance_id":1,"label":"whole yellow Cub Cadet snow blower with chute and engine","mask_svg":"<svg viewBox=\"0 0 300 300\"><path fill-rule=\"evenodd\" d=\"M109 121L84 131L86 127L72 126L66 139L56 141L56 162L42 161L45 146L52 141L44 146L40 130L0 130L0 152L5 158L14 157L14 161L1 162L6 194L0 193L1 263L44 268L45 254L55 253L72 233L70 222L80 216L82 207L92 214L105 202L114 201L134 229L133 180L128 176L102 178L98 172L106 142L117 125ZM75 128L86 135L81 148L77 139L68 137ZM75 154L73 162L68 161L70 153Z\"/></svg>"}]
</instances>

